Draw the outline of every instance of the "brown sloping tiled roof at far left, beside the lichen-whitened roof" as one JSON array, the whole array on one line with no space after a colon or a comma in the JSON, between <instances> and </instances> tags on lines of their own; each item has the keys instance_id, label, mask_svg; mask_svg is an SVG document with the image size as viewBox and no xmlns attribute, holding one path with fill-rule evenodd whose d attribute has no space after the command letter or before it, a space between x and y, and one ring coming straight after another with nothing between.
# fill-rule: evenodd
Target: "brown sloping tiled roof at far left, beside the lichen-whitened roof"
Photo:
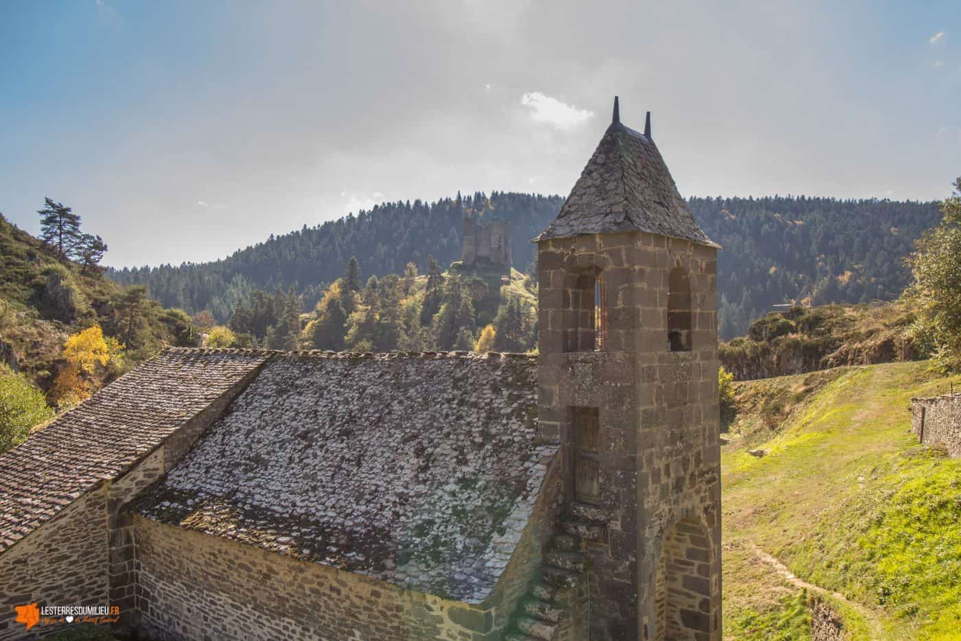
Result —
<instances>
[{"instance_id":1,"label":"brown sloping tiled roof at far left, beside the lichen-whitened roof","mask_svg":"<svg viewBox=\"0 0 961 641\"><path fill-rule=\"evenodd\" d=\"M0 552L123 474L268 356L166 350L0 455Z\"/></svg>"}]
</instances>

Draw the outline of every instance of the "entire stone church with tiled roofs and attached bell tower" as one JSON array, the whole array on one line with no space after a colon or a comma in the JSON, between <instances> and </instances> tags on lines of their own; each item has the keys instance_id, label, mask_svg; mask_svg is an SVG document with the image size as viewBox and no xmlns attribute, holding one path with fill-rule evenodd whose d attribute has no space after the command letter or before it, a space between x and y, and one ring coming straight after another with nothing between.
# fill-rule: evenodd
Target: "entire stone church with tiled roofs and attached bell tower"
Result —
<instances>
[{"instance_id":1,"label":"entire stone church with tiled roofs and attached bell tower","mask_svg":"<svg viewBox=\"0 0 961 641\"><path fill-rule=\"evenodd\" d=\"M716 251L614 117L539 354L167 349L0 456L0 639L721 638Z\"/></svg>"}]
</instances>

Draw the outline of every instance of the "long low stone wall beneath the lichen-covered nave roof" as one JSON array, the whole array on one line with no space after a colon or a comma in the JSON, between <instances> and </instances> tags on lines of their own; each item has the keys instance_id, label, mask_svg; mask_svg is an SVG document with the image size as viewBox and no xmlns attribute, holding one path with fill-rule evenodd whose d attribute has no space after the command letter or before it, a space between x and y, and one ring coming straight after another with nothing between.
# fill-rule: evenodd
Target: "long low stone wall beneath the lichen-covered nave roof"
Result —
<instances>
[{"instance_id":1,"label":"long low stone wall beneath the lichen-covered nave roof","mask_svg":"<svg viewBox=\"0 0 961 641\"><path fill-rule=\"evenodd\" d=\"M151 639L497 638L493 613L133 515Z\"/></svg>"}]
</instances>

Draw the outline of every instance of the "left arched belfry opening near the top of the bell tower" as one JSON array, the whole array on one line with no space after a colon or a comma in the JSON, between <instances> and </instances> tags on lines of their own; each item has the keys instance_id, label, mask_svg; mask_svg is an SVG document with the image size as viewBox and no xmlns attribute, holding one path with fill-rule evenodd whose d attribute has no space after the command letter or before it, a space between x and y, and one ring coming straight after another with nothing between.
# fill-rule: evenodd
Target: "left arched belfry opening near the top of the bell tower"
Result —
<instances>
[{"instance_id":1,"label":"left arched belfry opening near the top of the bell tower","mask_svg":"<svg viewBox=\"0 0 961 641\"><path fill-rule=\"evenodd\" d=\"M603 352L607 334L607 292L597 267L571 272L563 291L564 351Z\"/></svg>"}]
</instances>

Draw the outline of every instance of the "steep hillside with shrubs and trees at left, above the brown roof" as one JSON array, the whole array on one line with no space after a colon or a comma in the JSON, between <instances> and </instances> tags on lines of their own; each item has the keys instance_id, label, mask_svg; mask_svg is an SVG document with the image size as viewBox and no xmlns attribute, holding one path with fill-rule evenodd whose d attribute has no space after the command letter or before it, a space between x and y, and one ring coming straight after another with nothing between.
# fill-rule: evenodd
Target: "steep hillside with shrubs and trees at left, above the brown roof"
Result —
<instances>
[{"instance_id":1,"label":"steep hillside with shrubs and trees at left, above the brown roof","mask_svg":"<svg viewBox=\"0 0 961 641\"><path fill-rule=\"evenodd\" d=\"M61 218L69 213L59 207ZM75 217L70 235L62 220L45 221L44 241L0 214L0 452L54 408L76 405L161 347L200 340L184 311L160 308L142 286L104 278L97 257L68 253L76 239L99 254L107 249L82 234Z\"/></svg>"}]
</instances>

